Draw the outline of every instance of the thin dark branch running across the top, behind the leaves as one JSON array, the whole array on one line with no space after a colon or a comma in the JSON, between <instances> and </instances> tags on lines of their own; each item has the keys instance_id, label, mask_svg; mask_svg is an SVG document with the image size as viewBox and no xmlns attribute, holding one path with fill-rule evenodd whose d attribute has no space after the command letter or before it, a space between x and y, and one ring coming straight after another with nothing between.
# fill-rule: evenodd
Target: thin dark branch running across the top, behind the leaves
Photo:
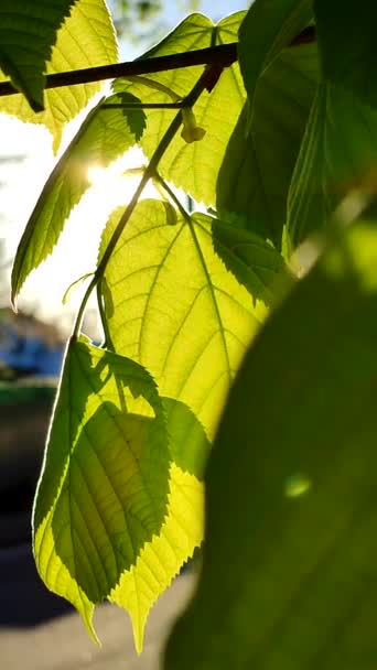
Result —
<instances>
[{"instance_id":1,"label":"thin dark branch running across the top, behind the leaves","mask_svg":"<svg viewBox=\"0 0 377 670\"><path fill-rule=\"evenodd\" d=\"M315 28L309 26L297 35L289 46L300 46L315 41ZM155 58L138 58L136 61L126 61L125 63L60 72L46 75L45 88L89 84L90 82L101 82L117 77L134 77L168 69L177 69L180 67L192 67L194 65L216 65L219 68L228 67L238 58L237 46L237 42L231 42L230 44L219 44L217 46L208 46L168 56L155 56ZM0 97L12 96L17 93L20 91L10 82L0 83Z\"/></svg>"}]
</instances>

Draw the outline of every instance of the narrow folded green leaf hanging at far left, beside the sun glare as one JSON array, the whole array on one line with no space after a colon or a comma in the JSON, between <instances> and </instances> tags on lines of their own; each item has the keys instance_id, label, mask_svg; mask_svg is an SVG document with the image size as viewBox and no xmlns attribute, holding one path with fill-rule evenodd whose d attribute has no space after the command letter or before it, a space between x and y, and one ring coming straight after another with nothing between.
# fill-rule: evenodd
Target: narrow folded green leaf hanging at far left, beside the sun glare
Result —
<instances>
[{"instance_id":1,"label":"narrow folded green leaf hanging at far left, beside the sun glare","mask_svg":"<svg viewBox=\"0 0 377 670\"><path fill-rule=\"evenodd\" d=\"M72 208L90 186L89 168L106 168L142 136L146 117L141 109L107 107L127 102L139 100L121 94L100 101L88 114L51 173L17 251L12 271L13 302L30 272L52 252Z\"/></svg>"}]
</instances>

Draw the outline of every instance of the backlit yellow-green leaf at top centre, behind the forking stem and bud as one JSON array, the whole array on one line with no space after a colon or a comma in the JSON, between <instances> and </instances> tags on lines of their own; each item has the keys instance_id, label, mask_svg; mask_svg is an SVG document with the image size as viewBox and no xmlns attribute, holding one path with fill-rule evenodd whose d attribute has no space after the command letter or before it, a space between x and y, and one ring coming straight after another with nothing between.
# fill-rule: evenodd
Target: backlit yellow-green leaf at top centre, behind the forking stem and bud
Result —
<instances>
[{"instance_id":1,"label":"backlit yellow-green leaf at top centre, behind the forking stem and bud","mask_svg":"<svg viewBox=\"0 0 377 670\"><path fill-rule=\"evenodd\" d=\"M238 12L214 25L206 17L192 14L143 57L236 42L243 17L244 12ZM161 90L161 87L170 89L177 97L184 97L202 73L203 66L151 74L147 77L149 85L146 84L146 77L134 77L132 83L117 79L115 90L129 90L143 102L172 102L172 96ZM151 88L151 85L159 89ZM177 134L159 165L162 176L184 188L196 202L215 204L217 172L245 99L238 65L225 68L214 89L211 93L204 91L194 107L196 123L206 131L205 137L201 141L187 143ZM152 155L175 115L176 110L170 109L147 111L148 133L141 142L147 156Z\"/></svg>"}]
</instances>

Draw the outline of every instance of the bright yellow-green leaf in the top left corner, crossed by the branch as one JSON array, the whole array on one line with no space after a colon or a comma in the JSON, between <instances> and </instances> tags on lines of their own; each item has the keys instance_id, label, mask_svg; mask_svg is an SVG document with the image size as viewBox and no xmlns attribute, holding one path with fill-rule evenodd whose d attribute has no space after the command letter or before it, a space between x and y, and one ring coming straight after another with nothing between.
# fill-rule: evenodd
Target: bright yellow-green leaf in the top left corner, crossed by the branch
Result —
<instances>
[{"instance_id":1,"label":"bright yellow-green leaf in the top left corner, crossed by the branch","mask_svg":"<svg viewBox=\"0 0 377 670\"><path fill-rule=\"evenodd\" d=\"M25 2L25 0L22 1ZM12 7L14 4L13 2ZM50 8L51 4L47 0L37 0L37 2L33 2L31 11L44 17L53 11L50 9L46 12L45 10L45 7ZM56 2L53 4L55 6ZM29 19L26 21L29 25ZM37 25L40 25L40 21ZM30 30L29 28L28 31ZM20 52L20 57L22 54L23 52ZM56 44L52 50L45 72L52 74L94 67L115 63L117 60L116 35L106 2L104 0L78 0L57 33ZM6 77L0 76L1 78ZM51 131L54 138L54 151L57 151L65 123L86 107L100 86L100 83L95 83L45 90L44 111L40 114L34 114L30 109L23 96L7 96L0 99L0 111L17 116L22 121L43 123Z\"/></svg>"}]
</instances>

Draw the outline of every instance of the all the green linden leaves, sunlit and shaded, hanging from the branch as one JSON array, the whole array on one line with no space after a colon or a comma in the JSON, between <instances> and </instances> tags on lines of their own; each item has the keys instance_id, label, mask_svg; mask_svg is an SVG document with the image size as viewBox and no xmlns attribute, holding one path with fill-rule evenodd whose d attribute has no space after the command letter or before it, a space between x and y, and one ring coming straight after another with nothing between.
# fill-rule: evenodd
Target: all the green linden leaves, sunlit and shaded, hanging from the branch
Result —
<instances>
[{"instance_id":1,"label":"all the green linden leaves, sunlit and shaded, hanging from the branch","mask_svg":"<svg viewBox=\"0 0 377 670\"><path fill-rule=\"evenodd\" d=\"M0 51L26 96L1 109L44 122L56 143L91 88L52 89L35 115L45 63L63 69L56 54L69 52L77 69L116 50L101 0L71 4L35 58ZM67 345L33 542L47 587L95 639L94 607L109 599L141 650L204 512L203 569L166 670L376 667L376 10L365 8L255 0L216 25L184 19L142 56L143 75L125 66L89 111L19 245L14 303L88 168L143 150L133 196L104 221ZM93 53L71 52L72 34L95 34ZM192 64L195 50L207 65ZM177 66L155 71L174 54ZM149 183L160 195L140 202ZM101 346L82 334L93 291Z\"/></svg>"}]
</instances>

